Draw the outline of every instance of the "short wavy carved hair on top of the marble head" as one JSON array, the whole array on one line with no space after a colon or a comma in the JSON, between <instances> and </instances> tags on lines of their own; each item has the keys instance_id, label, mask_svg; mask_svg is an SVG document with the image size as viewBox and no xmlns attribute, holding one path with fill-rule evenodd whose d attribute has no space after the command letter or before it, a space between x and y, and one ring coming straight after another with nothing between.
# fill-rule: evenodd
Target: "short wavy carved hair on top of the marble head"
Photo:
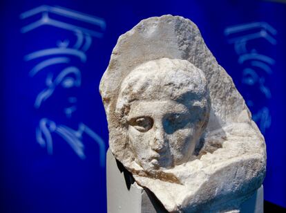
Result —
<instances>
[{"instance_id":1,"label":"short wavy carved hair on top of the marble head","mask_svg":"<svg viewBox=\"0 0 286 213\"><path fill-rule=\"evenodd\" d=\"M189 93L200 99L207 93L207 80L200 69L181 59L158 59L137 66L122 82L120 99L178 100ZM127 101L127 100L126 100Z\"/></svg>"}]
</instances>

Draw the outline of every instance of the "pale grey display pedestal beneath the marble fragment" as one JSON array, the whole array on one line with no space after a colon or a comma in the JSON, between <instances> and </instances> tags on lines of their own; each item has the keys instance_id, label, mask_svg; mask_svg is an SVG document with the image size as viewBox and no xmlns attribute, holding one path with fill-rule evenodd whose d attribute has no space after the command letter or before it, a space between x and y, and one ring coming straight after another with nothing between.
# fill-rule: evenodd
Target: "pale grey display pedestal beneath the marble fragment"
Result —
<instances>
[{"instance_id":1,"label":"pale grey display pedestal beneath the marble fragment","mask_svg":"<svg viewBox=\"0 0 286 213\"><path fill-rule=\"evenodd\" d=\"M162 203L148 189L137 185L111 151L106 154L106 185L108 213L166 212ZM242 213L263 213L263 186L242 203Z\"/></svg>"}]
</instances>

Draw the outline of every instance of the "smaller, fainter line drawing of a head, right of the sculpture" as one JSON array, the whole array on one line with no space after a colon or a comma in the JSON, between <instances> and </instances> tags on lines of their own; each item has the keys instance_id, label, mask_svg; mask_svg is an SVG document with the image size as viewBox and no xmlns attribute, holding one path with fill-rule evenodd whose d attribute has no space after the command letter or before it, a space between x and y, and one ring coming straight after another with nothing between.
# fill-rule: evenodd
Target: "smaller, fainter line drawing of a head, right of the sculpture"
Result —
<instances>
[{"instance_id":1,"label":"smaller, fainter line drawing of a head, right of the sculpture","mask_svg":"<svg viewBox=\"0 0 286 213\"><path fill-rule=\"evenodd\" d=\"M242 65L242 84L258 87L266 100L271 99L271 91L267 86L267 78L273 74L271 66L276 61L268 55L258 53L250 41L260 39L267 41L272 46L277 44L275 35L277 30L265 21L238 24L225 28L225 36L229 44L233 44L238 55L238 64ZM255 107L253 100L246 100L249 107ZM253 114L253 119L258 123L260 131L265 133L271 126L271 113L267 104Z\"/></svg>"}]
</instances>

